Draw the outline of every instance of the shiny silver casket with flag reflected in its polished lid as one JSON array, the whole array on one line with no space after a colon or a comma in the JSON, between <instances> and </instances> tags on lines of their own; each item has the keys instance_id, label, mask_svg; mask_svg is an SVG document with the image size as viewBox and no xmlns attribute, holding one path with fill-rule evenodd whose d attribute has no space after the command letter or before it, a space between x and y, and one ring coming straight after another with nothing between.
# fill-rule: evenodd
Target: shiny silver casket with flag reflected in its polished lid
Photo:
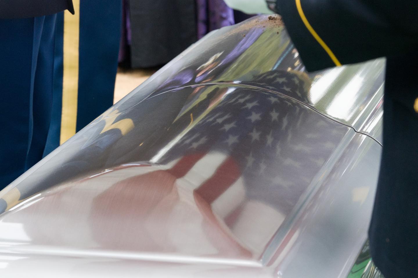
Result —
<instances>
[{"instance_id":1,"label":"shiny silver casket with flag reflected in its polished lid","mask_svg":"<svg viewBox=\"0 0 418 278\"><path fill-rule=\"evenodd\" d=\"M0 192L0 274L346 277L382 72L307 75L279 19L209 34Z\"/></svg>"}]
</instances>

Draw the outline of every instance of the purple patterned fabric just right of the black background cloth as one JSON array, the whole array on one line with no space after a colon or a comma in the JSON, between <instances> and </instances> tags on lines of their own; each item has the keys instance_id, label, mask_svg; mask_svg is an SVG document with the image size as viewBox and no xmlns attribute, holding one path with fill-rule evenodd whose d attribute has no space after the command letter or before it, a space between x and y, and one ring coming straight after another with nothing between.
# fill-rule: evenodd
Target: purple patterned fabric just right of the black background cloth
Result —
<instances>
[{"instance_id":1,"label":"purple patterned fabric just right of the black background cloth","mask_svg":"<svg viewBox=\"0 0 418 278\"><path fill-rule=\"evenodd\" d=\"M235 24L234 10L223 0L196 0L197 38L210 31Z\"/></svg>"}]
</instances>

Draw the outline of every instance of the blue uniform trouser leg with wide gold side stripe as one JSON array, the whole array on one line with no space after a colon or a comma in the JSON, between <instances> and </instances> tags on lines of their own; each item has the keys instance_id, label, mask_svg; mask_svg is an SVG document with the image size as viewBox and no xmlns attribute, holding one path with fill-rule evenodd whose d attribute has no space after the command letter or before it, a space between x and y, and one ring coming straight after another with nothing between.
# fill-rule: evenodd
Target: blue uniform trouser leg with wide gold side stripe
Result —
<instances>
[{"instance_id":1,"label":"blue uniform trouser leg with wide gold side stripe","mask_svg":"<svg viewBox=\"0 0 418 278\"><path fill-rule=\"evenodd\" d=\"M48 149L64 143L113 104L121 0L74 0L56 19L54 102Z\"/></svg>"}]
</instances>

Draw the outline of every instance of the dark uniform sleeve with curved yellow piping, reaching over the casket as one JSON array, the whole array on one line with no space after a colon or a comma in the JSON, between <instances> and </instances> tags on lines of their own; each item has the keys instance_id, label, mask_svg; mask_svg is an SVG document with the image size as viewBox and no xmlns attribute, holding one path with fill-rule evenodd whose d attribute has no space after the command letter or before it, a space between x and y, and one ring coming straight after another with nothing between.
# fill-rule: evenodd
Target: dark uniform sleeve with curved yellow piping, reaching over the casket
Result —
<instances>
[{"instance_id":1,"label":"dark uniform sleeve with curved yellow piping, reaching over the casket","mask_svg":"<svg viewBox=\"0 0 418 278\"><path fill-rule=\"evenodd\" d=\"M418 49L418 1L277 0L308 71Z\"/></svg>"}]
</instances>

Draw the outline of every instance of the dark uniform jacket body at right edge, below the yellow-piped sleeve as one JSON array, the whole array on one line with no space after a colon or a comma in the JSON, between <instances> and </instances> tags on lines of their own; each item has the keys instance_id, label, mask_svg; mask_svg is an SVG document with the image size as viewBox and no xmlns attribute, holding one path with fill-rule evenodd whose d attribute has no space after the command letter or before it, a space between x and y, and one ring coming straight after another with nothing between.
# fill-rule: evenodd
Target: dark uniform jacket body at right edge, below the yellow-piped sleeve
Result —
<instances>
[{"instance_id":1,"label":"dark uniform jacket body at right edge, below the yellow-piped sleeve","mask_svg":"<svg viewBox=\"0 0 418 278\"><path fill-rule=\"evenodd\" d=\"M373 260L386 278L418 277L418 113L405 106L418 96L417 63L413 54L387 59L384 147L369 229Z\"/></svg>"}]
</instances>

